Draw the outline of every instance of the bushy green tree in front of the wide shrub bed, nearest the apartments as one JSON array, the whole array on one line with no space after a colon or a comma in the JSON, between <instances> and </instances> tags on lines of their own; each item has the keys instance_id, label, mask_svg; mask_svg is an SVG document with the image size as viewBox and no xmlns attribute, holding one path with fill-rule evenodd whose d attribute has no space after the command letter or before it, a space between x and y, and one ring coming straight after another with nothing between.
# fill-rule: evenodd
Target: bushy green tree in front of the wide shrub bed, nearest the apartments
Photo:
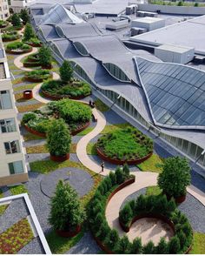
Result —
<instances>
[{"instance_id":1,"label":"bushy green tree in front of the wide shrub bed, nearest the apartments","mask_svg":"<svg viewBox=\"0 0 205 256\"><path fill-rule=\"evenodd\" d=\"M47 132L47 148L50 155L64 156L69 153L71 137L63 119L52 120Z\"/></svg>"}]
</instances>

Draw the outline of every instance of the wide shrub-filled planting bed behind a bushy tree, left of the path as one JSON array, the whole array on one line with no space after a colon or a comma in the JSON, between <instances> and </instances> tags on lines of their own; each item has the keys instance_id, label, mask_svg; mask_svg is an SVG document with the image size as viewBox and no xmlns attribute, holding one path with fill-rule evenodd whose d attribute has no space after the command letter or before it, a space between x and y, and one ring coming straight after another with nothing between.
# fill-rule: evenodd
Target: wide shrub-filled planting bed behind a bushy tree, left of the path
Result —
<instances>
[{"instance_id":1,"label":"wide shrub-filled planting bed behind a bushy tree, left of the path","mask_svg":"<svg viewBox=\"0 0 205 256\"><path fill-rule=\"evenodd\" d=\"M63 118L69 125L71 134L76 135L89 126L91 117L89 106L69 99L62 99L46 104L36 111L26 113L23 116L23 125L27 131L40 137L46 137L50 121L53 118Z\"/></svg>"}]
</instances>

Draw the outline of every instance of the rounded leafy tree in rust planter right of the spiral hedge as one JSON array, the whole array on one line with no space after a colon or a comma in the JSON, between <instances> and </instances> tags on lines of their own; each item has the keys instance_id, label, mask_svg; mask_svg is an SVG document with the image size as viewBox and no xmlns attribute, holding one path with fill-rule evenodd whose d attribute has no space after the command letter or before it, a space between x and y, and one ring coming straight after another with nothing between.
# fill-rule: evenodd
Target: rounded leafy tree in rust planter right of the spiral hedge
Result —
<instances>
[{"instance_id":1,"label":"rounded leafy tree in rust planter right of the spiral hedge","mask_svg":"<svg viewBox=\"0 0 205 256\"><path fill-rule=\"evenodd\" d=\"M180 197L186 194L186 187L190 185L191 175L186 158L167 158L163 171L158 176L158 185L169 197Z\"/></svg>"}]
</instances>

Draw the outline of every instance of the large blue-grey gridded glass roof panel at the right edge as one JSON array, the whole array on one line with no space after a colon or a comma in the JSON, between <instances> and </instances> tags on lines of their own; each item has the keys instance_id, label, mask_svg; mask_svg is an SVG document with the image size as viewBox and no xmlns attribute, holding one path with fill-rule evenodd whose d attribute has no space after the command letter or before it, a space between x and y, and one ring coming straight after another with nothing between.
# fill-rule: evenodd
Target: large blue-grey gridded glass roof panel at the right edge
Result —
<instances>
[{"instance_id":1,"label":"large blue-grey gridded glass roof panel at the right edge","mask_svg":"<svg viewBox=\"0 0 205 256\"><path fill-rule=\"evenodd\" d=\"M136 62L157 123L205 126L204 72L142 58L136 58Z\"/></svg>"}]
</instances>

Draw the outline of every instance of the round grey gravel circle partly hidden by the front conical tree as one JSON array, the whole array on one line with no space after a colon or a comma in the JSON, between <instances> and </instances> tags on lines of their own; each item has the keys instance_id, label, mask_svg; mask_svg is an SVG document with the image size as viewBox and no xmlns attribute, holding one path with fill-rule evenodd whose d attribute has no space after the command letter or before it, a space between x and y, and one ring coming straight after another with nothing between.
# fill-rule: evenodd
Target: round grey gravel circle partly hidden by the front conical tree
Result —
<instances>
[{"instance_id":1,"label":"round grey gravel circle partly hidden by the front conical tree","mask_svg":"<svg viewBox=\"0 0 205 256\"><path fill-rule=\"evenodd\" d=\"M69 182L69 185L76 189L80 197L87 194L94 184L88 172L76 168L63 168L55 172L50 172L47 175L43 175L41 180L41 190L49 198L53 196L59 179Z\"/></svg>"}]
</instances>

